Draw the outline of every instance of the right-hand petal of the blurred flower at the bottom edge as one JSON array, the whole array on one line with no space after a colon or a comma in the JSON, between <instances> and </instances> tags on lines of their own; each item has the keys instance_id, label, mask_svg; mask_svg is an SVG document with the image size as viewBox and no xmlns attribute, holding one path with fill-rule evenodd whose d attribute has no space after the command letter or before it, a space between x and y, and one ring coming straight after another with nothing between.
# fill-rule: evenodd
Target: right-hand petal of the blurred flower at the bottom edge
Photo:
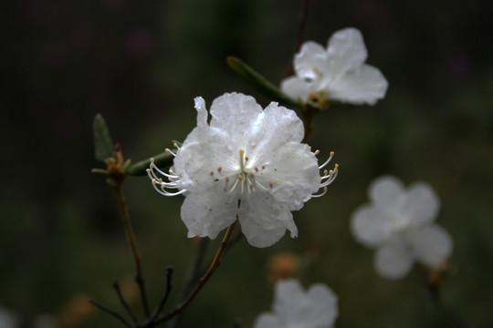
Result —
<instances>
[{"instance_id":1,"label":"right-hand petal of the blurred flower at the bottom edge","mask_svg":"<svg viewBox=\"0 0 493 328\"><path fill-rule=\"evenodd\" d=\"M339 315L338 298L326 285L318 283L309 288L310 327L331 327Z\"/></svg>"}]
</instances>

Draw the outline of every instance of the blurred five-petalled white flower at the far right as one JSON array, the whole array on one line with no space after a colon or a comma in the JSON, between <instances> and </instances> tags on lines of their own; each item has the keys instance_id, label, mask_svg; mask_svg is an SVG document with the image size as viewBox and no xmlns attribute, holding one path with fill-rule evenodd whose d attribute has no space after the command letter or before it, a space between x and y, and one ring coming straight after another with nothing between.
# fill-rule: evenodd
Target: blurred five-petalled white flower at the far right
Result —
<instances>
[{"instance_id":1,"label":"blurred five-petalled white flower at the far right","mask_svg":"<svg viewBox=\"0 0 493 328\"><path fill-rule=\"evenodd\" d=\"M398 179L375 179L371 204L352 213L351 231L357 241L376 248L374 265L385 278L403 277L414 260L425 266L442 264L452 252L452 239L434 220L440 207L435 191L424 182L407 190Z\"/></svg>"}]
</instances>

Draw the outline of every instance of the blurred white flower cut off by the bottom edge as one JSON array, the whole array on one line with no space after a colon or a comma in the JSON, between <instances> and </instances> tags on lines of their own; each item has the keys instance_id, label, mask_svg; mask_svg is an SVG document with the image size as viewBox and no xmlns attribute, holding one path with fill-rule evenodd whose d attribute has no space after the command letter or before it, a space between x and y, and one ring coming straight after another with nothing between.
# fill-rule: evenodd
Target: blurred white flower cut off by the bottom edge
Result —
<instances>
[{"instance_id":1,"label":"blurred white flower cut off by the bottom edge","mask_svg":"<svg viewBox=\"0 0 493 328\"><path fill-rule=\"evenodd\" d=\"M337 315L337 296L317 283L304 292L296 280L278 281L273 313L261 313L255 328L329 328Z\"/></svg>"}]
</instances>

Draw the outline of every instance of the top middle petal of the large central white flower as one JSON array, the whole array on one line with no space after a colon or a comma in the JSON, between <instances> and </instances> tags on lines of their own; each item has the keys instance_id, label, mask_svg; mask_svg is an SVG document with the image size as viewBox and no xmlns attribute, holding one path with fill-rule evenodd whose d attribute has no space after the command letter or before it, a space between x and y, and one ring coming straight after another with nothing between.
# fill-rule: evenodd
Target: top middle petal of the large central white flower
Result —
<instances>
[{"instance_id":1,"label":"top middle petal of the large central white flower","mask_svg":"<svg viewBox=\"0 0 493 328\"><path fill-rule=\"evenodd\" d=\"M224 131L230 138L228 145L236 151L237 145L247 145L251 139L251 130L262 114L262 108L254 97L239 93L216 97L210 111L211 128Z\"/></svg>"}]
</instances>

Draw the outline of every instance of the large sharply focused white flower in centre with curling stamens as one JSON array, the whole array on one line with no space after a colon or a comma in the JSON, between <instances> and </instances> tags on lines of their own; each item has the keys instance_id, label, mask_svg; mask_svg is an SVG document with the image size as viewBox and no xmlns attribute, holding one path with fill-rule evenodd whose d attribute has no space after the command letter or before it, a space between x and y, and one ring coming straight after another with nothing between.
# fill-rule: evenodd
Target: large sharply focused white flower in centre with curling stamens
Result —
<instances>
[{"instance_id":1,"label":"large sharply focused white flower in centre with curling stamens","mask_svg":"<svg viewBox=\"0 0 493 328\"><path fill-rule=\"evenodd\" d=\"M225 94L215 99L210 123L202 97L195 98L197 127L176 152L165 173L152 162L152 185L165 196L184 194L182 220L188 236L214 239L239 220L256 247L277 242L286 232L298 235L291 210L337 175L320 169L315 153L300 143L304 130L295 112L271 103L265 110L254 97ZM157 172L157 173L156 173ZM169 179L165 182L158 173ZM170 190L177 190L171 192ZM322 194L323 194L322 193Z\"/></svg>"}]
</instances>

